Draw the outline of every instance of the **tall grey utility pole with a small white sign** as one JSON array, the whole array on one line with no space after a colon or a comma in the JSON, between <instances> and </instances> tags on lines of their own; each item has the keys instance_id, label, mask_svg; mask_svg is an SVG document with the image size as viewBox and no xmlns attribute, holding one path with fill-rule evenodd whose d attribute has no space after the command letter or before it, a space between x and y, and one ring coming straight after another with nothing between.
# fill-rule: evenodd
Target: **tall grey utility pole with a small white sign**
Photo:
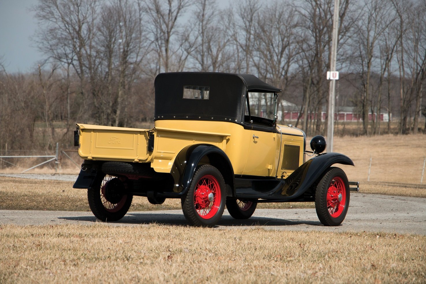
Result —
<instances>
[{"instance_id":1,"label":"tall grey utility pole with a small white sign","mask_svg":"<svg viewBox=\"0 0 426 284\"><path fill-rule=\"evenodd\" d=\"M327 79L330 79L330 90L328 94L328 124L327 124L327 148L328 152L333 151L333 135L334 135L334 101L336 92L336 80L339 79L339 72L336 72L336 56L337 56L337 39L339 26L339 5L340 0L334 0L333 15L333 37L331 39L331 60L330 72L327 72Z\"/></svg>"}]
</instances>

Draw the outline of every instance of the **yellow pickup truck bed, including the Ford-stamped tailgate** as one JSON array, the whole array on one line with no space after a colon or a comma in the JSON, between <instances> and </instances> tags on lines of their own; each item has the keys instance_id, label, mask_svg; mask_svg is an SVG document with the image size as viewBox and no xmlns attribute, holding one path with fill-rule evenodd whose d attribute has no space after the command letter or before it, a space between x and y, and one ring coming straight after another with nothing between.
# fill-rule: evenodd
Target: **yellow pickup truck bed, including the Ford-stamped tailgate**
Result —
<instances>
[{"instance_id":1,"label":"yellow pickup truck bed, including the Ford-stamped tailgate","mask_svg":"<svg viewBox=\"0 0 426 284\"><path fill-rule=\"evenodd\" d=\"M83 159L150 162L158 172L170 172L176 155L193 144L226 147L229 133L179 128L122 128L77 124L78 154Z\"/></svg>"}]
</instances>

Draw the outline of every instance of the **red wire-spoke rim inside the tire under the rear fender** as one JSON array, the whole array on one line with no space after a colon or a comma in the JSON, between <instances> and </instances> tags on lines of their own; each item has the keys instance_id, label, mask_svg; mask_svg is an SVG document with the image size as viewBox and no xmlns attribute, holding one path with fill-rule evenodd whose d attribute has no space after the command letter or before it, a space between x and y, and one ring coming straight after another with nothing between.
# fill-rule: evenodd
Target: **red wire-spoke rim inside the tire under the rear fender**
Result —
<instances>
[{"instance_id":1,"label":"red wire-spoke rim inside the tire under the rear fender","mask_svg":"<svg viewBox=\"0 0 426 284\"><path fill-rule=\"evenodd\" d=\"M201 218L209 219L220 207L221 192L219 182L212 175L200 179L194 191L194 205Z\"/></svg>"}]
</instances>

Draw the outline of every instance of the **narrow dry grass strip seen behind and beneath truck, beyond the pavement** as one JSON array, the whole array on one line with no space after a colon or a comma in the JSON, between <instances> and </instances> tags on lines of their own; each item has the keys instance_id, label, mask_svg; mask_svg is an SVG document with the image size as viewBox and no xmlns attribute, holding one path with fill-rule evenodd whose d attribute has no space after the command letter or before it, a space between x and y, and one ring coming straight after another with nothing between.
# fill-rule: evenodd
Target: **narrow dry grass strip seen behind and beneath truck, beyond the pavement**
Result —
<instances>
[{"instance_id":1,"label":"narrow dry grass strip seen behind and beneath truck, beyond the pavement","mask_svg":"<svg viewBox=\"0 0 426 284\"><path fill-rule=\"evenodd\" d=\"M89 211L87 191L72 182L0 177L0 209ZM362 182L363 193L426 197L426 185ZM357 193L352 193L357 194ZM259 203L258 208L314 208L314 203ZM130 211L181 209L178 199L153 205L146 197L133 197Z\"/></svg>"}]
</instances>

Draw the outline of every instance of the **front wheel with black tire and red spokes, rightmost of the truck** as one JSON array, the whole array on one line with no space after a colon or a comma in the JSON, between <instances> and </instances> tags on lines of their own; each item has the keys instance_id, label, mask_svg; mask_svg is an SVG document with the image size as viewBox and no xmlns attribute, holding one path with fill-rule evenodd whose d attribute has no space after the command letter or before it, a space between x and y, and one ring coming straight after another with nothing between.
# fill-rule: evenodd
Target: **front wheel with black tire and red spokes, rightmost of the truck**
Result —
<instances>
[{"instance_id":1,"label":"front wheel with black tire and red spokes, rightmost of the truck","mask_svg":"<svg viewBox=\"0 0 426 284\"><path fill-rule=\"evenodd\" d=\"M315 209L324 226L339 226L346 217L349 183L341 168L329 168L317 185Z\"/></svg>"}]
</instances>

